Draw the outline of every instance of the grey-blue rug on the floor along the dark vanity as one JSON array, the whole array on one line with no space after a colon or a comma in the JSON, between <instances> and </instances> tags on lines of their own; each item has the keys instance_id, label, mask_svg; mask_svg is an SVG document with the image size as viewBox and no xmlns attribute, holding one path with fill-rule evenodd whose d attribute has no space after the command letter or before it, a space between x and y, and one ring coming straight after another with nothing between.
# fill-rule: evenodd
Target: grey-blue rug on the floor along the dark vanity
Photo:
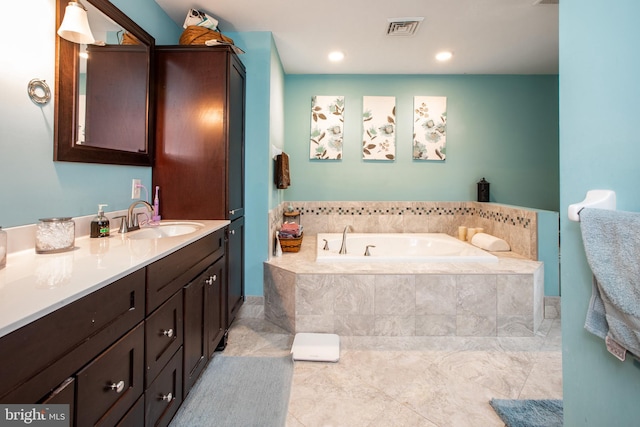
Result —
<instances>
[{"instance_id":1,"label":"grey-blue rug on the floor along the dark vanity","mask_svg":"<svg viewBox=\"0 0 640 427\"><path fill-rule=\"evenodd\" d=\"M293 378L287 357L216 355L170 427L284 427Z\"/></svg>"}]
</instances>

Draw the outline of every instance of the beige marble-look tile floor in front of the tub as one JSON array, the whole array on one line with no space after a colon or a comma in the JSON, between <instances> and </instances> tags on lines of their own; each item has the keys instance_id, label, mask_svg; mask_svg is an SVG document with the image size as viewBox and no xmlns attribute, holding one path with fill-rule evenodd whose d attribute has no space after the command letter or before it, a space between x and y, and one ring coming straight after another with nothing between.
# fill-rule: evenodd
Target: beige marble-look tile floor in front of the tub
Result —
<instances>
[{"instance_id":1,"label":"beige marble-look tile floor in front of the tub","mask_svg":"<svg viewBox=\"0 0 640 427\"><path fill-rule=\"evenodd\" d=\"M287 427L503 426L491 398L562 398L560 319L530 338L340 339L338 363L295 362ZM250 298L224 354L283 356L292 342Z\"/></svg>"}]
</instances>

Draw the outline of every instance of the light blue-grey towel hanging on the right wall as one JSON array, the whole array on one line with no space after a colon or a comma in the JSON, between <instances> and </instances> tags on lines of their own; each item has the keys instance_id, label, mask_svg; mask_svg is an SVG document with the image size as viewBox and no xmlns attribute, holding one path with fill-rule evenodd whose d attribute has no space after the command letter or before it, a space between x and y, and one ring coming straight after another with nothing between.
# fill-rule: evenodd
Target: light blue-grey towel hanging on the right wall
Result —
<instances>
[{"instance_id":1,"label":"light blue-grey towel hanging on the right wall","mask_svg":"<svg viewBox=\"0 0 640 427\"><path fill-rule=\"evenodd\" d=\"M593 271L585 328L640 356L640 214L585 208L580 229Z\"/></svg>"}]
</instances>

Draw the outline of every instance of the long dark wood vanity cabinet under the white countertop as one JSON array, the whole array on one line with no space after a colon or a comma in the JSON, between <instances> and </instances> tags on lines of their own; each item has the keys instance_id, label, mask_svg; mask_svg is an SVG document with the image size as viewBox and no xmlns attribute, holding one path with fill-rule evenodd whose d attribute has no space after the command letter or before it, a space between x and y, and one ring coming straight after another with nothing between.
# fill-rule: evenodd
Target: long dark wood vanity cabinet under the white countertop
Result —
<instances>
[{"instance_id":1,"label":"long dark wood vanity cabinet under the white countertop","mask_svg":"<svg viewBox=\"0 0 640 427\"><path fill-rule=\"evenodd\" d=\"M225 331L226 233L0 338L0 403L68 404L71 426L168 425Z\"/></svg>"}]
</instances>

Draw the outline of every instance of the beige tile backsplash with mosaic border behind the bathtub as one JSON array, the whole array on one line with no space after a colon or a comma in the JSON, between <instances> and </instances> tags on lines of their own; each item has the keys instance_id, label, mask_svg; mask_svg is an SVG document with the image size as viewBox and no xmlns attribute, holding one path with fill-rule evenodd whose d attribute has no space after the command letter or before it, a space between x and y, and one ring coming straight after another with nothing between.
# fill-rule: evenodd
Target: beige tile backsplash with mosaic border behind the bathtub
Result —
<instances>
[{"instance_id":1,"label":"beige tile backsplash with mosaic border behind the bathtub","mask_svg":"<svg viewBox=\"0 0 640 427\"><path fill-rule=\"evenodd\" d=\"M282 213L289 206L301 214L305 241L318 233L342 233L347 225L356 233L446 233L454 237L459 226L482 227L485 233L506 240L513 252L538 259L537 213L524 208L480 202L284 202L269 214L270 236L282 224Z\"/></svg>"}]
</instances>

